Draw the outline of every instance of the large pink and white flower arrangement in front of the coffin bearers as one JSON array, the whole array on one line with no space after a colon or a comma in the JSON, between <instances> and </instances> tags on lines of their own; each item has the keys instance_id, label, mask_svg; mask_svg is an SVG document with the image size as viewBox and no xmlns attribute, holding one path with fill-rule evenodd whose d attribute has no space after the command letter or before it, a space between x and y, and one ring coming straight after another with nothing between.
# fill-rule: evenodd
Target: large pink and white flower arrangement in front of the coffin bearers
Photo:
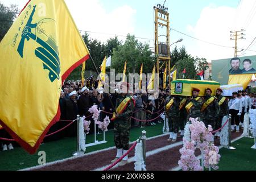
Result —
<instances>
[{"instance_id":1,"label":"large pink and white flower arrangement in front of the coffin bearers","mask_svg":"<svg viewBox=\"0 0 256 182\"><path fill-rule=\"evenodd\" d=\"M191 124L189 130L191 132L191 142L183 138L183 148L180 149L179 167L183 171L202 171L200 160L195 156L196 148L200 148L204 152L204 167L218 169L220 154L218 147L212 142L212 126L205 127L203 122L198 121L198 118L190 118Z\"/></svg>"}]
</instances>

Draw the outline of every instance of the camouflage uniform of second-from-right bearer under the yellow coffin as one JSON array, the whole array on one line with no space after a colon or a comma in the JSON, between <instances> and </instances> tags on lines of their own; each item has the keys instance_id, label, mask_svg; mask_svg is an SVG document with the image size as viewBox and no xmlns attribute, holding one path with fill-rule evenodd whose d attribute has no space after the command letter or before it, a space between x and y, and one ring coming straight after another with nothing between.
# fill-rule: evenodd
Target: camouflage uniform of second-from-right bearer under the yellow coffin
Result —
<instances>
[{"instance_id":1,"label":"camouflage uniform of second-from-right bearer under the yellow coffin","mask_svg":"<svg viewBox=\"0 0 256 182\"><path fill-rule=\"evenodd\" d=\"M212 96L206 96L205 97L205 102L208 101ZM202 112L202 121L204 122L204 125L208 127L208 125L212 126L212 129L216 129L216 121L218 118L218 113L220 110L220 106L218 105L218 100L216 97L214 97L214 101L210 103L205 110Z\"/></svg>"}]
</instances>

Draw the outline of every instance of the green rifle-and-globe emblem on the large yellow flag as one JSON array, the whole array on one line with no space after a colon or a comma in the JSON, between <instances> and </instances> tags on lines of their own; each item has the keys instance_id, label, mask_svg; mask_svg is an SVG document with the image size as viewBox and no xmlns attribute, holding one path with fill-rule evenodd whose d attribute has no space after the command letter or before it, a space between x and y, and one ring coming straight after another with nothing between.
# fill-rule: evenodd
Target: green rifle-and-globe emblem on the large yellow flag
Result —
<instances>
[{"instance_id":1,"label":"green rifle-and-globe emblem on the large yellow flag","mask_svg":"<svg viewBox=\"0 0 256 182\"><path fill-rule=\"evenodd\" d=\"M38 43L40 47L35 49L35 55L43 61L43 68L49 71L49 80L53 82L60 78L59 51L55 40L56 33L51 31L56 30L56 28L52 28L53 26L56 27L56 22L51 18L44 18L38 23L32 23L35 11L36 6L33 6L32 13L28 18L26 26L23 28L22 38L17 51L20 57L23 58L25 42L34 40Z\"/></svg>"}]
</instances>

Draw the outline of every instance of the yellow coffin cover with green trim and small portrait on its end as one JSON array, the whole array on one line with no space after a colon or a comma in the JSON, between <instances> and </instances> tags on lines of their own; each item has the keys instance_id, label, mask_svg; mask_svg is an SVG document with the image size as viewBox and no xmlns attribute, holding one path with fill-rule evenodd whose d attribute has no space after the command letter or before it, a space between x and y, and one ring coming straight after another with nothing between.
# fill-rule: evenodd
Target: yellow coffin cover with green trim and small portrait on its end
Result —
<instances>
[{"instance_id":1,"label":"yellow coffin cover with green trim and small portrait on its end","mask_svg":"<svg viewBox=\"0 0 256 182\"><path fill-rule=\"evenodd\" d=\"M212 96L215 95L216 89L220 88L217 81L205 80L175 80L171 83L171 94L177 96L192 96L194 88L200 89L199 96L204 96L205 89L212 89Z\"/></svg>"}]
</instances>

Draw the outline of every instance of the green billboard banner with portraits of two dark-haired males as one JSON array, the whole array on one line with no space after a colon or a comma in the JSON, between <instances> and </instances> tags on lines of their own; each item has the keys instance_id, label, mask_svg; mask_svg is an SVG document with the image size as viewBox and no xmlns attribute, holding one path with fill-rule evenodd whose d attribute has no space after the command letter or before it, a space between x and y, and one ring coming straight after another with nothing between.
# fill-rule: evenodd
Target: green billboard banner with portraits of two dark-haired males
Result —
<instances>
[{"instance_id":1,"label":"green billboard banner with portraits of two dark-haired males","mask_svg":"<svg viewBox=\"0 0 256 182\"><path fill-rule=\"evenodd\" d=\"M256 56L212 60L212 80L227 85L229 75L256 73Z\"/></svg>"}]
</instances>

